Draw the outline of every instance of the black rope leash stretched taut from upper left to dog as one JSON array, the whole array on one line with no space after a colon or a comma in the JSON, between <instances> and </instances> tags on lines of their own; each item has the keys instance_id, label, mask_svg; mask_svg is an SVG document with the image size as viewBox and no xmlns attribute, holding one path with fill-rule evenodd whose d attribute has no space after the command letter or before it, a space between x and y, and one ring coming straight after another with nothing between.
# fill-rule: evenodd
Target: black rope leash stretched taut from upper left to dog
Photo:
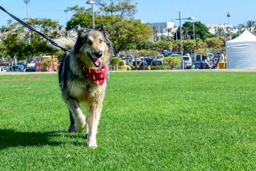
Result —
<instances>
[{"instance_id":1,"label":"black rope leash stretched taut from upper left to dog","mask_svg":"<svg viewBox=\"0 0 256 171\"><path fill-rule=\"evenodd\" d=\"M26 22L20 20L19 18L15 17L14 15L12 15L11 13L9 13L8 11L6 11L6 9L4 9L4 7L0 6L0 9L2 9L4 12L6 12L9 16L11 16L13 19L15 19L16 21L18 21L20 24L22 24L23 26L26 26L27 28L37 32L39 35L41 35L43 38L45 38L46 40L48 40L49 42L51 42L54 46L61 48L61 50L63 50L64 52L68 52L69 50L66 48L63 48L61 46L59 46L59 44L57 44L56 42L54 42L52 39L50 39L49 37L47 37L46 35L44 35L43 33L37 31L36 29L32 28L31 26L29 26Z\"/></svg>"}]
</instances>

